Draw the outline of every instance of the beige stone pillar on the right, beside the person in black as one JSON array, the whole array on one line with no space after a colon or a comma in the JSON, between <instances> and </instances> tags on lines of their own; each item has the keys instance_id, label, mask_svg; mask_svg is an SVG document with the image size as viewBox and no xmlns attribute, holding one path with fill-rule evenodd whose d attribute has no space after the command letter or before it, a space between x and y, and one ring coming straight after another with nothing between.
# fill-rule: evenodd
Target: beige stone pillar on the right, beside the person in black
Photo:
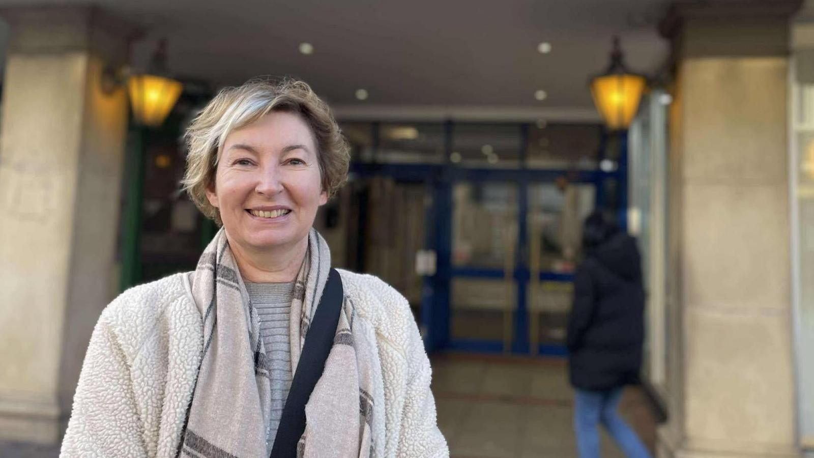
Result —
<instances>
[{"instance_id":1,"label":"beige stone pillar on the right, beside the person in black","mask_svg":"<svg viewBox=\"0 0 814 458\"><path fill-rule=\"evenodd\" d=\"M658 456L799 456L787 86L799 1L676 2Z\"/></svg>"}]
</instances>

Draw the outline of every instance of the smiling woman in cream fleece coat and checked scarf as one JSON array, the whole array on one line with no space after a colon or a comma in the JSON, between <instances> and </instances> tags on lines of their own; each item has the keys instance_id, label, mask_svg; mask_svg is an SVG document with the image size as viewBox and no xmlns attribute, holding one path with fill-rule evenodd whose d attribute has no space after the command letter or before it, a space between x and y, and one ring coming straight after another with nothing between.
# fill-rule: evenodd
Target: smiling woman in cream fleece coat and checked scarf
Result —
<instances>
[{"instance_id":1,"label":"smiling woman in cream fleece coat and checked scarf","mask_svg":"<svg viewBox=\"0 0 814 458\"><path fill-rule=\"evenodd\" d=\"M330 252L312 225L344 183L347 143L301 81L222 90L186 139L185 188L221 230L195 271L103 311L62 456L261 457L290 429L281 417L305 337L331 298ZM449 456L405 298L373 276L339 275L338 325L322 336L333 346L305 397L297 456Z\"/></svg>"}]
</instances>

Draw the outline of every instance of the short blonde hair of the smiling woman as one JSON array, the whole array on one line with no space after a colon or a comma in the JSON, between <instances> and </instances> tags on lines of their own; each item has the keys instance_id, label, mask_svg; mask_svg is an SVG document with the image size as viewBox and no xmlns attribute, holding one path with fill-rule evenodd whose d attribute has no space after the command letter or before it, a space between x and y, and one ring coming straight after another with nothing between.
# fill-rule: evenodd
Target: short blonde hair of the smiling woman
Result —
<instances>
[{"instance_id":1,"label":"short blonde hair of the smiling woman","mask_svg":"<svg viewBox=\"0 0 814 458\"><path fill-rule=\"evenodd\" d=\"M221 90L190 123L184 135L188 148L183 189L208 218L221 224L218 209L206 192L215 182L217 162L226 137L269 112L292 112L303 117L317 143L322 190L333 196L348 177L350 152L339 125L304 81L254 79L243 86Z\"/></svg>"}]
</instances>

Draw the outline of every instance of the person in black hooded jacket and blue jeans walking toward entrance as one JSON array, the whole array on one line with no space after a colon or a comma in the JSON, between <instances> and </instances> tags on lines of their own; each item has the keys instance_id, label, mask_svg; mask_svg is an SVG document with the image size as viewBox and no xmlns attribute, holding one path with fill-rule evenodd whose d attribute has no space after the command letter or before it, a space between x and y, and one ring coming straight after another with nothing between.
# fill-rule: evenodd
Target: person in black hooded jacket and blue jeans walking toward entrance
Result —
<instances>
[{"instance_id":1,"label":"person in black hooded jacket and blue jeans walking toward entrance","mask_svg":"<svg viewBox=\"0 0 814 458\"><path fill-rule=\"evenodd\" d=\"M624 385L637 383L641 370L644 290L636 240L594 212L585 220L583 244L567 335L580 458L598 458L600 422L625 455L649 458L617 412Z\"/></svg>"}]
</instances>

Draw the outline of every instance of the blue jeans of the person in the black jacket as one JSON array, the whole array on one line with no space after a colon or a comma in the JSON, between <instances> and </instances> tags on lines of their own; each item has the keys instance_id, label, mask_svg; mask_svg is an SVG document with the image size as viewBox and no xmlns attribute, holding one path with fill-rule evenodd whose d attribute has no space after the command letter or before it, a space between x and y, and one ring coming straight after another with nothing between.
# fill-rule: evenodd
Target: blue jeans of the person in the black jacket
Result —
<instances>
[{"instance_id":1,"label":"blue jeans of the person in the black jacket","mask_svg":"<svg viewBox=\"0 0 814 458\"><path fill-rule=\"evenodd\" d=\"M600 422L628 458L650 458L645 444L616 412L621 399L621 387L608 391L576 390L574 430L580 458L599 458Z\"/></svg>"}]
</instances>

